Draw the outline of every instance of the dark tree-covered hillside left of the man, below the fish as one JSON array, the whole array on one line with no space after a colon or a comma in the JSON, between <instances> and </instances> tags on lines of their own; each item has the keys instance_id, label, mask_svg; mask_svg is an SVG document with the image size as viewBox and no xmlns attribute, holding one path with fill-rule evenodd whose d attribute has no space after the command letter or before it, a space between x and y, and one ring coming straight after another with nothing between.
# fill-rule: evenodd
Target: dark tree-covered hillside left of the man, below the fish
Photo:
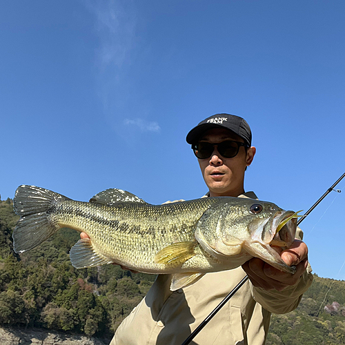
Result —
<instances>
[{"instance_id":1,"label":"dark tree-covered hillside left of the man, below the fish","mask_svg":"<svg viewBox=\"0 0 345 345\"><path fill-rule=\"evenodd\" d=\"M68 253L80 237L70 229L19 257L12 248L19 218L12 208L12 200L0 201L0 324L110 338L155 275L113 265L73 268Z\"/></svg>"}]
</instances>

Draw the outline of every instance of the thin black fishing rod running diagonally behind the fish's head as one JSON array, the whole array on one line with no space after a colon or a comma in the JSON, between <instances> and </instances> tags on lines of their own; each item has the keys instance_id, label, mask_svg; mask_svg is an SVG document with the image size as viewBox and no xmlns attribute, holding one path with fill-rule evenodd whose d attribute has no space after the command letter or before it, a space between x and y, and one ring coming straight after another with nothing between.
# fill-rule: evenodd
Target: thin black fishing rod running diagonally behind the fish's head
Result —
<instances>
[{"instance_id":1,"label":"thin black fishing rod running diagonally behind the fish's head","mask_svg":"<svg viewBox=\"0 0 345 345\"><path fill-rule=\"evenodd\" d=\"M306 213L299 219L299 221L297 221L297 225L301 224L301 222L303 221L303 219L305 219L305 217L307 215L309 215L309 213L311 213L311 211L329 194L333 191L337 192L337 193L341 193L341 190L339 189L334 189L335 186L337 186L337 184L339 184L340 181L342 181L342 179L344 179L345 177L345 172L344 174L339 177L339 179L337 179L337 181L335 181L335 183L328 188L328 190L326 190L326 192L324 193L324 195L322 195L322 197L320 197L315 204L313 204L313 206L311 206L311 208L309 208L309 210L306 211ZM246 277L244 277L241 282L239 282L239 284L237 284L235 286L235 288L233 288L233 290L218 304L218 306L215 307L215 309L213 309L213 311L206 317L206 319L204 319L203 322L201 322L201 324L199 324L199 326L197 326L197 328L195 328L195 330L188 336L188 338L181 344L181 345L188 345L190 344L190 342L196 337L196 335L201 331L202 328L204 328L206 326L206 324L208 324L208 322L210 321L210 319L212 319L217 313L218 311L224 306L224 304L226 304L226 302L228 302L228 300L233 297L233 295L235 295L235 293L237 293L237 291L239 290L239 288L241 288L244 283L248 280L248 275L246 275Z\"/></svg>"}]
</instances>

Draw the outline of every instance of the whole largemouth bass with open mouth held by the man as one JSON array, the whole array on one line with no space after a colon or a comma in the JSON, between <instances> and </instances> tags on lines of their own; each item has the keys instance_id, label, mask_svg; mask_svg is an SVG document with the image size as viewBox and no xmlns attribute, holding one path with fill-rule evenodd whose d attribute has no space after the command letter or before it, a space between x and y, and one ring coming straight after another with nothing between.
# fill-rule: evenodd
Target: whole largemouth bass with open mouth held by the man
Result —
<instances>
[{"instance_id":1,"label":"whole largemouth bass with open mouth held by the man","mask_svg":"<svg viewBox=\"0 0 345 345\"><path fill-rule=\"evenodd\" d=\"M237 197L207 197L151 205L124 190L109 189L89 202L35 186L19 186L14 211L14 250L30 250L60 228L86 233L70 250L75 268L121 264L131 270L173 274L170 289L205 273L236 268L259 257L294 273L271 246L295 239L297 213Z\"/></svg>"}]
</instances>

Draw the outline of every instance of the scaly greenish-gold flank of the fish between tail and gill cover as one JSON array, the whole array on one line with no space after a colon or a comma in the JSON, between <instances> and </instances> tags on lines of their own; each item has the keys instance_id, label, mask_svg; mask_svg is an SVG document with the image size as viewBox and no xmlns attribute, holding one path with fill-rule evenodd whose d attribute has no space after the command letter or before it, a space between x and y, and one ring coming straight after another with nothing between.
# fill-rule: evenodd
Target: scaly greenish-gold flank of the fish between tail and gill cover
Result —
<instances>
[{"instance_id":1,"label":"scaly greenish-gold flank of the fish between tail and gill cover","mask_svg":"<svg viewBox=\"0 0 345 345\"><path fill-rule=\"evenodd\" d=\"M175 242L195 240L195 224L202 210L215 203L214 199L200 200L159 207L149 204L115 207L66 200L56 207L51 222L60 228L87 233L95 251L114 262L133 266L135 259L136 265L141 263L141 270L159 270L164 265L153 263L159 250ZM174 217L173 221L166 217L167 214ZM180 232L177 231L179 228Z\"/></svg>"}]
</instances>

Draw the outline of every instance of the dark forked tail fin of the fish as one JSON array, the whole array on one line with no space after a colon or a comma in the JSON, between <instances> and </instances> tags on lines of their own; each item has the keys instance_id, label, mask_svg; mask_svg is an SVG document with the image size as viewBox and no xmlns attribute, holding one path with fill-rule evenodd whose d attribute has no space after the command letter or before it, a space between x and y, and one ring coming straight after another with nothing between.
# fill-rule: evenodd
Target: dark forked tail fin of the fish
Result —
<instances>
[{"instance_id":1,"label":"dark forked tail fin of the fish","mask_svg":"<svg viewBox=\"0 0 345 345\"><path fill-rule=\"evenodd\" d=\"M13 231L16 253L30 250L55 234L59 227L50 222L50 210L67 197L35 186L19 186L13 199L14 212L20 215Z\"/></svg>"}]
</instances>

